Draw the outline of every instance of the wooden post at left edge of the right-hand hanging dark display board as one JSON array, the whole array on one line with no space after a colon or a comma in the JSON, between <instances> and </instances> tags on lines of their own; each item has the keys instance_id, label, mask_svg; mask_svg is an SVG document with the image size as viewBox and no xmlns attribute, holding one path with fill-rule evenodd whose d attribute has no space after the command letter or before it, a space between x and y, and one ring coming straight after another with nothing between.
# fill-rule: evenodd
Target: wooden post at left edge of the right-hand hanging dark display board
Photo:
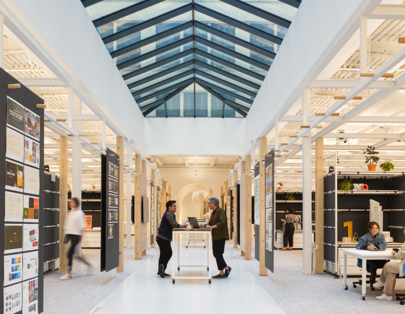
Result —
<instances>
[{"instance_id":1,"label":"wooden post at left edge of the right-hand hanging dark display board","mask_svg":"<svg viewBox=\"0 0 405 314\"><path fill-rule=\"evenodd\" d=\"M267 137L260 138L260 261L259 261L259 274L260 276L267 276L267 268L264 265L265 254L265 175L264 175L264 160L267 154Z\"/></svg>"}]
</instances>

